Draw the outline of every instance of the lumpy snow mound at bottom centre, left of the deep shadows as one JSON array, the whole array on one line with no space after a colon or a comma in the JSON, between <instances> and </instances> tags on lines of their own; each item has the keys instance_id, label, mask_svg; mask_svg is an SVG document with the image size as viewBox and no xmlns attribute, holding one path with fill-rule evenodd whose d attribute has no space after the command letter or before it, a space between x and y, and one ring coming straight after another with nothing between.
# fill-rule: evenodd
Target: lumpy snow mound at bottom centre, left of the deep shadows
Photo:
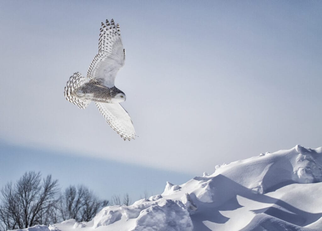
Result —
<instances>
[{"instance_id":1,"label":"lumpy snow mound at bottom centre, left of the deep shadows","mask_svg":"<svg viewBox=\"0 0 322 231\"><path fill-rule=\"evenodd\" d=\"M136 201L131 206L107 206L94 218L94 228L109 226L123 218L135 219L132 228L125 230L192 230L192 221L185 205L179 200L166 200L161 195Z\"/></svg>"}]
</instances>

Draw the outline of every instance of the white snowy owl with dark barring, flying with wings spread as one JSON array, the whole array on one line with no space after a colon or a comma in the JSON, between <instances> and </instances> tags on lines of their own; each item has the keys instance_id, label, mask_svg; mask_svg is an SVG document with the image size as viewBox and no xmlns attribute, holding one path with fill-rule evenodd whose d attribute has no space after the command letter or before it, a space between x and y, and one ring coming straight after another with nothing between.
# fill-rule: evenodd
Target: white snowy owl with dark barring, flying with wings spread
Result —
<instances>
[{"instance_id":1,"label":"white snowy owl with dark barring, flying with wings spread","mask_svg":"<svg viewBox=\"0 0 322 231\"><path fill-rule=\"evenodd\" d=\"M114 85L124 63L125 49L120 27L113 19L111 22L106 20L100 28L99 52L90 64L87 77L74 73L65 86L64 95L66 100L81 109L94 101L109 126L124 140L131 140L137 135L128 112L120 104L126 100L126 95Z\"/></svg>"}]
</instances>

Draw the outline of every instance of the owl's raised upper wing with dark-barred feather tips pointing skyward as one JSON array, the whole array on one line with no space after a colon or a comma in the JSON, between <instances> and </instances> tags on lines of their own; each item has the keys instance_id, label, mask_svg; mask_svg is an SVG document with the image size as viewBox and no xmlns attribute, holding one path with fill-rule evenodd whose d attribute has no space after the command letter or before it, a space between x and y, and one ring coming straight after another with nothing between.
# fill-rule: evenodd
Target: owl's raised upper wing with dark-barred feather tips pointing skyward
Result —
<instances>
[{"instance_id":1,"label":"owl's raised upper wing with dark-barred feather tips pointing skyward","mask_svg":"<svg viewBox=\"0 0 322 231\"><path fill-rule=\"evenodd\" d=\"M125 64L120 27L114 20L102 22L99 34L99 52L94 57L87 72L89 79L95 79L102 85L113 87L118 70Z\"/></svg>"}]
</instances>

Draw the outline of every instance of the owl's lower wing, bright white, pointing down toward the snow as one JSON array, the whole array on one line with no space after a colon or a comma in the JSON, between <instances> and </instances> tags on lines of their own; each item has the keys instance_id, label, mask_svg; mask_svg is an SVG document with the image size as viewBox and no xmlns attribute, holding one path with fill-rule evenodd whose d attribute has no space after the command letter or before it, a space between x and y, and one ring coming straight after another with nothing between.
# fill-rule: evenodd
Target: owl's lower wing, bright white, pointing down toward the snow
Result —
<instances>
[{"instance_id":1,"label":"owl's lower wing, bright white, pointing down toward the snow","mask_svg":"<svg viewBox=\"0 0 322 231\"><path fill-rule=\"evenodd\" d=\"M137 136L133 122L128 112L119 103L95 102L99 112L104 116L109 126L124 140L135 139Z\"/></svg>"}]
</instances>

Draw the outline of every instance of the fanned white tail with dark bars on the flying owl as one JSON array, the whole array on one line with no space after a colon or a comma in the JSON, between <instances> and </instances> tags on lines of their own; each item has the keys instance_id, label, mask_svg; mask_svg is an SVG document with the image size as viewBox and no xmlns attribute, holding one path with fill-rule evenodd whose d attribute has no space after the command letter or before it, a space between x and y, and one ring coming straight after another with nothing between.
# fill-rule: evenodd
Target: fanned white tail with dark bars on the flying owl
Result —
<instances>
[{"instance_id":1,"label":"fanned white tail with dark bars on the flying owl","mask_svg":"<svg viewBox=\"0 0 322 231\"><path fill-rule=\"evenodd\" d=\"M81 109L85 109L90 103L90 100L81 99L79 96L77 96L76 91L81 85L85 84L86 82L88 82L88 80L84 76L82 76L81 73L76 72L67 81L67 85L65 86L64 91L66 100L72 102Z\"/></svg>"}]
</instances>

